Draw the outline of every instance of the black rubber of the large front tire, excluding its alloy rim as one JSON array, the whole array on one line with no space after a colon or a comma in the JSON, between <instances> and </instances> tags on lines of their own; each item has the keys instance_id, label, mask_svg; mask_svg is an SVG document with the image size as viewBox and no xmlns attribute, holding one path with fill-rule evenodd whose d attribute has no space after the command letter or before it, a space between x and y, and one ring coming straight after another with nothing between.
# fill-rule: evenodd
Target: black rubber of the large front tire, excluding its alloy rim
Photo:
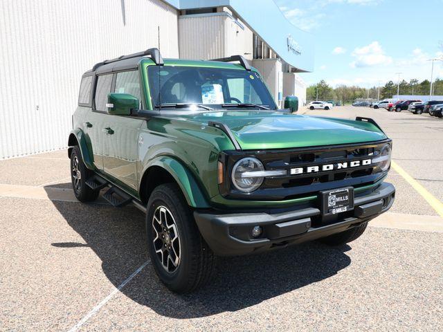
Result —
<instances>
[{"instance_id":1,"label":"black rubber of the large front tire, excluding its alloy rim","mask_svg":"<svg viewBox=\"0 0 443 332\"><path fill-rule=\"evenodd\" d=\"M156 238L153 226L154 213L159 207L167 208L172 214L179 235L179 263L172 272L163 266L154 245ZM159 185L152 192L147 203L146 233L152 265L161 282L171 291L190 293L212 279L216 263L215 255L201 237L192 210L177 184Z\"/></svg>"}]
</instances>

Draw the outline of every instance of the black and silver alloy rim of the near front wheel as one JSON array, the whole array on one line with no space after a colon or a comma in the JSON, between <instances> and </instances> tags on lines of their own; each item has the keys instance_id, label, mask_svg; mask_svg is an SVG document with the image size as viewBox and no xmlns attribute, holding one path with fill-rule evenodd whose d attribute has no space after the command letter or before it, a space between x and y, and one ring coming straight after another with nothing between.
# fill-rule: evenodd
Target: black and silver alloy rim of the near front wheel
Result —
<instances>
[{"instance_id":1,"label":"black and silver alloy rim of the near front wheel","mask_svg":"<svg viewBox=\"0 0 443 332\"><path fill-rule=\"evenodd\" d=\"M173 273L180 264L181 248L179 232L170 210L161 205L152 216L154 250L163 268Z\"/></svg>"}]
</instances>

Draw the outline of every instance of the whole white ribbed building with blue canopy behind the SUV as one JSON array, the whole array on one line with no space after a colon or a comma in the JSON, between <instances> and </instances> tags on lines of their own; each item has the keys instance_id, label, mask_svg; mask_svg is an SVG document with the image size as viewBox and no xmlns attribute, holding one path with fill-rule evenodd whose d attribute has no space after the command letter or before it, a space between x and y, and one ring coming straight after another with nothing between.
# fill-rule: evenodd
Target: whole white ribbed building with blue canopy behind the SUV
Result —
<instances>
[{"instance_id":1,"label":"whole white ribbed building with blue canopy behind the SUV","mask_svg":"<svg viewBox=\"0 0 443 332\"><path fill-rule=\"evenodd\" d=\"M311 35L272 0L4 0L0 3L0 159L66 147L80 77L103 59L251 60L276 101L306 100Z\"/></svg>"}]
</instances>

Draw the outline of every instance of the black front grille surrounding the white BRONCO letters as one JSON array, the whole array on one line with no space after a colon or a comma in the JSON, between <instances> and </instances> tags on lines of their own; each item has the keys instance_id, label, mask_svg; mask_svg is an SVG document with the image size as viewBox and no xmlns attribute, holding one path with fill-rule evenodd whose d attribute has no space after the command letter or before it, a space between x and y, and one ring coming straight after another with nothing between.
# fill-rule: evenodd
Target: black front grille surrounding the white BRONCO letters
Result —
<instances>
[{"instance_id":1,"label":"black front grille surrounding the white BRONCO letters","mask_svg":"<svg viewBox=\"0 0 443 332\"><path fill-rule=\"evenodd\" d=\"M225 159L226 174L230 174L237 160L254 156L262 161L265 169L287 169L287 176L265 178L260 189L244 194L225 184L219 187L224 196L242 199L282 200L298 197L302 194L318 193L336 187L352 185L359 187L375 183L383 176L377 165L358 165L349 167L352 162L372 159L383 142L364 145L340 145L301 149L232 151ZM347 163L347 168L338 168L338 164ZM323 170L324 165L334 165L332 170ZM319 172L307 172L307 167L318 167ZM303 169L302 174L291 174L291 169ZM230 176L228 176L230 178Z\"/></svg>"}]
</instances>

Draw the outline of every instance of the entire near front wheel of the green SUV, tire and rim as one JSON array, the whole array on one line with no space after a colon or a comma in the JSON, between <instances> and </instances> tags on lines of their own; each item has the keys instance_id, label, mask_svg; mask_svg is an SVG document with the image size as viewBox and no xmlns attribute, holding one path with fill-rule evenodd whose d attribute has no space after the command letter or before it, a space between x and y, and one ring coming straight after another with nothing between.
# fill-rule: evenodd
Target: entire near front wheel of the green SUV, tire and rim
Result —
<instances>
[{"instance_id":1,"label":"entire near front wheel of the green SUV, tire and rim","mask_svg":"<svg viewBox=\"0 0 443 332\"><path fill-rule=\"evenodd\" d=\"M210 281L215 255L201 237L175 183L159 185L152 192L147 203L146 233L154 269L171 291L190 293Z\"/></svg>"}]
</instances>

